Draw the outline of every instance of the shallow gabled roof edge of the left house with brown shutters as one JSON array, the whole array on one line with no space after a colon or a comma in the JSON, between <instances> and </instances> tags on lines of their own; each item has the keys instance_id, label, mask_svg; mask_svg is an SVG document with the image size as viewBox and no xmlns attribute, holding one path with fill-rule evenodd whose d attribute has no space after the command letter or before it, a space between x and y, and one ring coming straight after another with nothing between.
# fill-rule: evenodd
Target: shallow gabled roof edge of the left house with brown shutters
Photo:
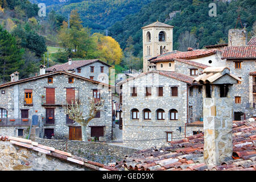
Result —
<instances>
[{"instance_id":1,"label":"shallow gabled roof edge of the left house with brown shutters","mask_svg":"<svg viewBox=\"0 0 256 182\"><path fill-rule=\"evenodd\" d=\"M20 84L20 83L22 83L22 82L34 81L34 80L38 80L38 79L43 78L43 77L48 77L48 76L57 75L57 74L69 75L69 76L72 76L72 77L80 78L80 79L82 79L82 80L86 80L86 81L93 82L94 84L101 84L101 85L105 85L105 86L112 86L112 85L108 85L108 84L105 84L105 83L102 83L102 82L99 82L99 81L90 80L89 78L85 78L85 77L82 77L82 76L79 76L79 75L75 75L75 74L72 74L72 73L68 73L68 72L65 72L65 71L55 71L55 72L46 73L46 74L44 74L44 75L39 75L39 76L33 76L33 77L29 77L29 78L24 78L24 79L21 79L21 80L18 80L18 81L7 82L7 83L5 83L5 84L1 84L1 85L0 85L0 88L3 88L3 87L5 87L5 86L11 86L11 85L15 85L15 84Z\"/></svg>"}]
</instances>

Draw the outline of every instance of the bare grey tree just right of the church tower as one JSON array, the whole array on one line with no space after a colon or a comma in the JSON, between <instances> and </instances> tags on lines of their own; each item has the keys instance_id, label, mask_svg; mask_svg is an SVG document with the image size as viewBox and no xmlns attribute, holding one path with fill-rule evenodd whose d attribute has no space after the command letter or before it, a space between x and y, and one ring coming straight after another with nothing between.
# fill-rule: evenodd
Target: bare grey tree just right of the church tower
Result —
<instances>
[{"instance_id":1,"label":"bare grey tree just right of the church tower","mask_svg":"<svg viewBox=\"0 0 256 182\"><path fill-rule=\"evenodd\" d=\"M196 48L197 39L195 35L185 31L179 36L179 51L187 51L188 47Z\"/></svg>"}]
</instances>

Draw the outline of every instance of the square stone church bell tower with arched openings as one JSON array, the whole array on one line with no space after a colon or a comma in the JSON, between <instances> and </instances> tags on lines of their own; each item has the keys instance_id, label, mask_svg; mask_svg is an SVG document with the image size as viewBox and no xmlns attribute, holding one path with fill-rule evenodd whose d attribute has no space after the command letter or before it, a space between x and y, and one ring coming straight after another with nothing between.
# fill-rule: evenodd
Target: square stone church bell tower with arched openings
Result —
<instances>
[{"instance_id":1,"label":"square stone church bell tower with arched openings","mask_svg":"<svg viewBox=\"0 0 256 182\"><path fill-rule=\"evenodd\" d=\"M148 59L172 51L172 29L174 26L155 22L142 27L143 72L148 72Z\"/></svg>"}]
</instances>

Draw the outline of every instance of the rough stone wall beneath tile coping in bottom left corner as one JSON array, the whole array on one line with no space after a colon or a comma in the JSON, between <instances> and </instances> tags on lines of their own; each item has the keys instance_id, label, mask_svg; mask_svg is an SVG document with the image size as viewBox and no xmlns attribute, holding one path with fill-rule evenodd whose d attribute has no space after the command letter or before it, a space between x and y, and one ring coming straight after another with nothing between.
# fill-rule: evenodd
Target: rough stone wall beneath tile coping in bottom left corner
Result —
<instances>
[{"instance_id":1,"label":"rough stone wall beneath tile coping in bottom left corner","mask_svg":"<svg viewBox=\"0 0 256 182\"><path fill-rule=\"evenodd\" d=\"M89 168L0 141L0 171L91 171Z\"/></svg>"}]
</instances>

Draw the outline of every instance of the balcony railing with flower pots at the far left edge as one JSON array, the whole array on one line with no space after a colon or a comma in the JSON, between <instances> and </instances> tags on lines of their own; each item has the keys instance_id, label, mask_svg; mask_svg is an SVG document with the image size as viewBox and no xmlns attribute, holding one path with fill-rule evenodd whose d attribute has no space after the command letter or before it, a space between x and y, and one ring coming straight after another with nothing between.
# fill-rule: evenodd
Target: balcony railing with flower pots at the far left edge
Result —
<instances>
[{"instance_id":1,"label":"balcony railing with flower pots at the far left edge","mask_svg":"<svg viewBox=\"0 0 256 182\"><path fill-rule=\"evenodd\" d=\"M28 118L0 118L0 126L30 126Z\"/></svg>"}]
</instances>

